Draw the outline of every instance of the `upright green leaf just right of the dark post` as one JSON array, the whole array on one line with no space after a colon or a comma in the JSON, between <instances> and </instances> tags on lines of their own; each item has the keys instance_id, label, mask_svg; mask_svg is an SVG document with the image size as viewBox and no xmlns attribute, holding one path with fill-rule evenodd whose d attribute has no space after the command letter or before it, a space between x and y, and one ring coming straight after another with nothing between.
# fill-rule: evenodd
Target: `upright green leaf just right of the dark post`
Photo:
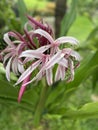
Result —
<instances>
[{"instance_id":1,"label":"upright green leaf just right of the dark post","mask_svg":"<svg viewBox=\"0 0 98 130\"><path fill-rule=\"evenodd\" d=\"M76 19L76 13L77 13L76 7L77 7L77 0L72 0L71 9L68 14L65 14L61 23L61 33L60 33L61 36L67 34L69 28Z\"/></svg>"}]
</instances>

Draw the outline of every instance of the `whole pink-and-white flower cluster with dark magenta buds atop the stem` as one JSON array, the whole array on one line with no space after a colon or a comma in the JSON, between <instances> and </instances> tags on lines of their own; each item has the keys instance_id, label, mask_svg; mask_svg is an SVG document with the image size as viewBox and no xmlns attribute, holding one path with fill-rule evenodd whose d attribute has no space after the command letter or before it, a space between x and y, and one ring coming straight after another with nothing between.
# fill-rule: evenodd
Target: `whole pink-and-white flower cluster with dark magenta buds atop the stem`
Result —
<instances>
[{"instance_id":1,"label":"whole pink-and-white flower cluster with dark magenta buds atop the stem","mask_svg":"<svg viewBox=\"0 0 98 130\"><path fill-rule=\"evenodd\" d=\"M31 16L27 17L24 34L6 33L4 41L8 46L1 52L8 81L11 71L20 75L16 83L16 85L22 83L18 101L21 100L28 84L43 77L46 78L48 85L64 79L72 81L74 69L81 59L73 49L68 47L61 49L62 45L77 45L78 41L75 38L62 36L55 40L53 30L47 23L37 21Z\"/></svg>"}]
</instances>

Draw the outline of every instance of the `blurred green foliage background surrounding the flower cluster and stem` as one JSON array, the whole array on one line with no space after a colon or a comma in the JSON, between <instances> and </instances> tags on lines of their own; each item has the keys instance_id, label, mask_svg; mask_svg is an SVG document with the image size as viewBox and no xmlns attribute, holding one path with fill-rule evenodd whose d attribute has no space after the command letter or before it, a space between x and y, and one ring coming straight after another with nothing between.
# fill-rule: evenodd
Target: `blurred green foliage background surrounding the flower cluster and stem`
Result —
<instances>
[{"instance_id":1,"label":"blurred green foliage background surrounding the flower cluster and stem","mask_svg":"<svg viewBox=\"0 0 98 130\"><path fill-rule=\"evenodd\" d=\"M51 87L38 130L98 130L98 1L1 0L0 50L6 46L5 32L23 33L26 14L42 17L56 36L76 37L80 41L76 50L83 57L73 82ZM16 77L12 74L11 78L8 83L0 63L0 130L34 130L33 114L42 83L30 86L19 104L19 87L13 87Z\"/></svg>"}]
</instances>

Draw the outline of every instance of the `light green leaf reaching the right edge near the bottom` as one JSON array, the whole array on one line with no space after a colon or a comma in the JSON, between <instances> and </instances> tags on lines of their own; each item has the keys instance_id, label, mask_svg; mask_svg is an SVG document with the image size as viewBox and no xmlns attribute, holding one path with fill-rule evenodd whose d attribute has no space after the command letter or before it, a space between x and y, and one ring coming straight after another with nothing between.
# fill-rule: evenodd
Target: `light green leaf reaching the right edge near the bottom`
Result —
<instances>
[{"instance_id":1,"label":"light green leaf reaching the right edge near the bottom","mask_svg":"<svg viewBox=\"0 0 98 130\"><path fill-rule=\"evenodd\" d=\"M78 110L68 110L68 111L65 110L63 118L67 119L98 118L98 102L87 103Z\"/></svg>"}]
</instances>

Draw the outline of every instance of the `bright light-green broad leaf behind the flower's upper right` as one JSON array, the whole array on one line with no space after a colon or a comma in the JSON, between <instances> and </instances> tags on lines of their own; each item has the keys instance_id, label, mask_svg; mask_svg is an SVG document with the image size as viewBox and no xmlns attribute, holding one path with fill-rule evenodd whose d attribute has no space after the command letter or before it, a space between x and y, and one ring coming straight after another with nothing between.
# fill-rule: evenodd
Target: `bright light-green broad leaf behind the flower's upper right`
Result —
<instances>
[{"instance_id":1,"label":"bright light-green broad leaf behind the flower's upper right","mask_svg":"<svg viewBox=\"0 0 98 130\"><path fill-rule=\"evenodd\" d=\"M86 39L88 38L90 32L93 30L93 24L90 21L90 19L86 16L78 15L75 19L74 23L68 30L69 36L76 37L80 41L80 47L85 47L85 49L88 48L88 44ZM86 43L86 44L85 44Z\"/></svg>"}]
</instances>

